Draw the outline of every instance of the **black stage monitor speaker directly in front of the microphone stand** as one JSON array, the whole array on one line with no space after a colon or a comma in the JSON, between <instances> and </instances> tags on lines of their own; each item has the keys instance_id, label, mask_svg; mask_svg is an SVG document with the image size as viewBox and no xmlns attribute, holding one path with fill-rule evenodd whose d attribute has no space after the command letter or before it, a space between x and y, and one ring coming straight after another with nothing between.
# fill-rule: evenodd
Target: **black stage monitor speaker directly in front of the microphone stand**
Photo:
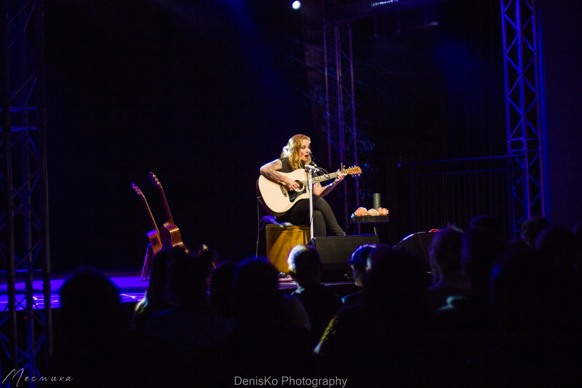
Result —
<instances>
[{"instance_id":1,"label":"black stage monitor speaker directly in front of the microphone stand","mask_svg":"<svg viewBox=\"0 0 582 388\"><path fill-rule=\"evenodd\" d=\"M324 270L349 269L347 260L352 252L364 244L379 244L377 234L359 234L356 236L314 237L309 241L320 253Z\"/></svg>"}]
</instances>

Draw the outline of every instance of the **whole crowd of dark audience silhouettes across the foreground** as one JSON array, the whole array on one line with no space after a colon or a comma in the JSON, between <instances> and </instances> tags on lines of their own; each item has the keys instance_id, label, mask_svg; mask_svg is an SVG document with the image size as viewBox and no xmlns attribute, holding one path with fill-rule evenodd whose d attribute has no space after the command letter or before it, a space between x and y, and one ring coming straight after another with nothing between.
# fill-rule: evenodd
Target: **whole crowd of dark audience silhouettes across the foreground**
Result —
<instances>
[{"instance_id":1,"label":"whole crowd of dark audience silhouettes across the foreground","mask_svg":"<svg viewBox=\"0 0 582 388\"><path fill-rule=\"evenodd\" d=\"M337 376L370 387L574 385L582 224L570 231L534 217L522 234L508 243L487 216L464 232L440 230L429 250L432 285L419 258L363 245L348 261L363 290L343 304L321 284L310 245L289 252L292 295L264 258L212 270L212 252L166 249L131 321L115 284L79 268L59 290L48 370L72 376L67 387L222 387L235 376Z\"/></svg>"}]
</instances>

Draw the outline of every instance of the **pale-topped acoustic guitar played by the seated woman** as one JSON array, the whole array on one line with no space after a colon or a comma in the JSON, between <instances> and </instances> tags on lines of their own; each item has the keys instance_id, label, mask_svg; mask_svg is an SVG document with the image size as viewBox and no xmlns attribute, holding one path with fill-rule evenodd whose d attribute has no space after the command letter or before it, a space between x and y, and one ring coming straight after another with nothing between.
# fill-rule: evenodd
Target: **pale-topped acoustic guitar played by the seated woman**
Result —
<instances>
[{"instance_id":1,"label":"pale-topped acoustic guitar played by the seated woman","mask_svg":"<svg viewBox=\"0 0 582 388\"><path fill-rule=\"evenodd\" d=\"M362 173L359 166L342 169L340 171L346 175L359 175ZM281 182L272 181L262 175L258 177L257 195L265 211L274 216L285 214L297 201L309 198L306 170L297 169L289 173L278 171L278 173L299 183L299 188L294 191L287 191ZM338 176L337 172L315 176L313 177L313 183L335 179L336 176Z\"/></svg>"}]
</instances>

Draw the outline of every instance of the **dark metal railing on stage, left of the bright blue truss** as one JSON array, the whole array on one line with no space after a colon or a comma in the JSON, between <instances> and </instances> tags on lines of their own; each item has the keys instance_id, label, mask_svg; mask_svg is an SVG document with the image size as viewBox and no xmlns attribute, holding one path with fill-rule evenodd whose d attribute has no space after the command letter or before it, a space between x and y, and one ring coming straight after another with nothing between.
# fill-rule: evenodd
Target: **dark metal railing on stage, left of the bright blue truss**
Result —
<instances>
[{"instance_id":1,"label":"dark metal railing on stage, left of the bright blue truss","mask_svg":"<svg viewBox=\"0 0 582 388\"><path fill-rule=\"evenodd\" d=\"M523 175L520 155L399 163L409 180L410 232L469 227L480 215L495 218L509 238L519 229L523 206L512 200ZM519 187L519 185L517 185Z\"/></svg>"}]
</instances>

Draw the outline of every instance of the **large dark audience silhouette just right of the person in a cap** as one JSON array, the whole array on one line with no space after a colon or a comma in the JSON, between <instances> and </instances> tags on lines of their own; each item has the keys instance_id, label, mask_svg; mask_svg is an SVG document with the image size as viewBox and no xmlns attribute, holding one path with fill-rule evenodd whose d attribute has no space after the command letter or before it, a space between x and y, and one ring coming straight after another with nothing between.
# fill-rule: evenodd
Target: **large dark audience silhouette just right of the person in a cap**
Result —
<instances>
[{"instance_id":1,"label":"large dark audience silhouette just right of the person in a cap","mask_svg":"<svg viewBox=\"0 0 582 388\"><path fill-rule=\"evenodd\" d=\"M363 304L340 309L315 353L326 368L343 371L361 386L428 383L430 277L409 254L379 246L370 257Z\"/></svg>"}]
</instances>

